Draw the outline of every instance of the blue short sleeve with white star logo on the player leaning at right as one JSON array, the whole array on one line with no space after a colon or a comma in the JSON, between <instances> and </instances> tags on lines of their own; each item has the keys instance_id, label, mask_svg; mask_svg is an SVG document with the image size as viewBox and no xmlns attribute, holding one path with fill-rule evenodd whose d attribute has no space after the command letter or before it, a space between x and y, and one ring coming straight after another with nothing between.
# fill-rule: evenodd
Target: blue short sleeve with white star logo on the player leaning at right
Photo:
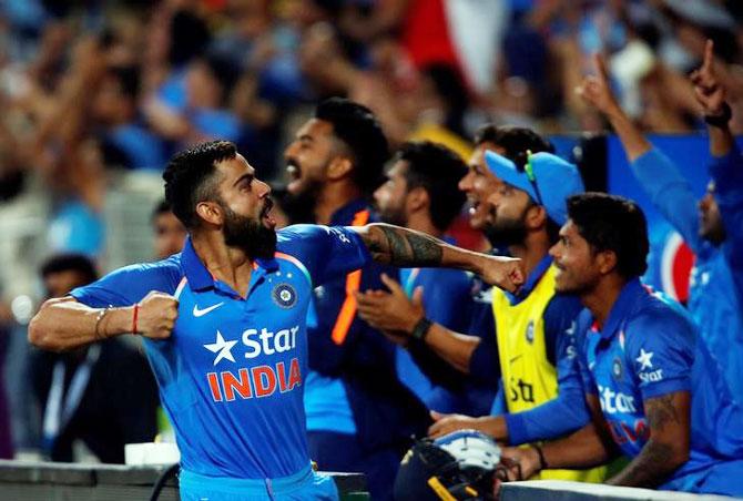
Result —
<instances>
[{"instance_id":1,"label":"blue short sleeve with white star logo on the player leaning at right","mask_svg":"<svg viewBox=\"0 0 743 501\"><path fill-rule=\"evenodd\" d=\"M628 324L625 336L627 367L643 399L691 389L695 331L688 318L668 305L654 306Z\"/></svg>"}]
</instances>

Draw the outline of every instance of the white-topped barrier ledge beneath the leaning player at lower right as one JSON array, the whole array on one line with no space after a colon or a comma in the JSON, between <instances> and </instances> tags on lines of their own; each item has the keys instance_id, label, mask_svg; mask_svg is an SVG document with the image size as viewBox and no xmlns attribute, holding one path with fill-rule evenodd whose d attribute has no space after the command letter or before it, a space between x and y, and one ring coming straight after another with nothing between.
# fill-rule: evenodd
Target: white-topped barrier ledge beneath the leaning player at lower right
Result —
<instances>
[{"instance_id":1,"label":"white-topped barrier ledge beneath the leaning player at lower right","mask_svg":"<svg viewBox=\"0 0 743 501\"><path fill-rule=\"evenodd\" d=\"M529 480L505 483L500 491L501 501L730 501L731 499L733 498L724 495L653 491L561 480Z\"/></svg>"}]
</instances>

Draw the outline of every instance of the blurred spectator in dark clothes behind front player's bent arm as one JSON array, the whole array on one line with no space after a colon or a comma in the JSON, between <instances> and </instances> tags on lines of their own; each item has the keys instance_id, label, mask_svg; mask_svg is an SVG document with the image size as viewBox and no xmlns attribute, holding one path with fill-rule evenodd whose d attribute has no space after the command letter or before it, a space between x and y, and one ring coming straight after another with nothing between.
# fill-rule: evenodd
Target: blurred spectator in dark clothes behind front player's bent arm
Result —
<instances>
[{"instance_id":1,"label":"blurred spectator in dark clothes behind front player's bent arm","mask_svg":"<svg viewBox=\"0 0 743 501\"><path fill-rule=\"evenodd\" d=\"M55 255L41 267L41 277L52 298L94 282L96 272L85 256ZM144 357L125 342L35 351L29 370L42 412L42 448L52 461L79 460L80 440L100 461L123 463L124 444L154 439L155 381Z\"/></svg>"}]
</instances>

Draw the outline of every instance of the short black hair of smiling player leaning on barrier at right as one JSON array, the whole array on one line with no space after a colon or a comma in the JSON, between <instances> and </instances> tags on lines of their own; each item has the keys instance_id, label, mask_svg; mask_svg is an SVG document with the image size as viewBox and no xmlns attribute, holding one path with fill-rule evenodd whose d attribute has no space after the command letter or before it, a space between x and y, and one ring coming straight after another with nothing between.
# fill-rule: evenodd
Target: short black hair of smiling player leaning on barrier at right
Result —
<instances>
[{"instance_id":1,"label":"short black hair of smiling player leaning on barrier at right","mask_svg":"<svg viewBox=\"0 0 743 501\"><path fill-rule=\"evenodd\" d=\"M597 250L617 255L617 272L627 279L648 269L648 222L629 198L588 192L568 198L568 217L578 233Z\"/></svg>"}]
</instances>

